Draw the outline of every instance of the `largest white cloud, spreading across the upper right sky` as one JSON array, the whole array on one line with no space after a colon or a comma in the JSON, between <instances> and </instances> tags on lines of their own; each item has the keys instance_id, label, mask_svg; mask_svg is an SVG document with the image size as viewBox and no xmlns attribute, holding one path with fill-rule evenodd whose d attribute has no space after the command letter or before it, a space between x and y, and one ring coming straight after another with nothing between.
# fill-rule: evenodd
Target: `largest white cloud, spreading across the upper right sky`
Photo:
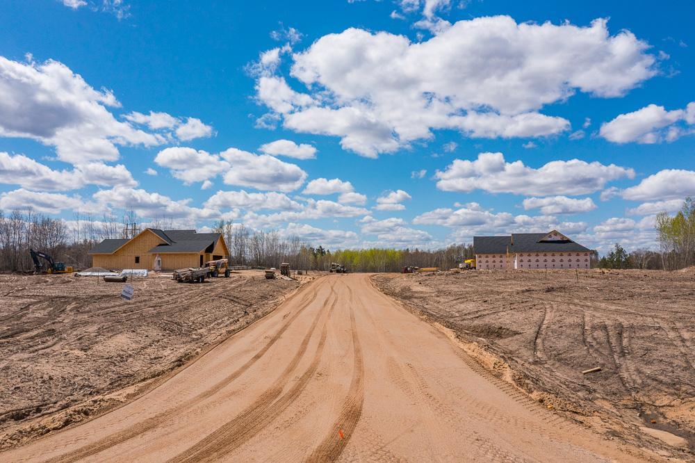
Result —
<instances>
[{"instance_id":1,"label":"largest white cloud, spreading across the upper right sky","mask_svg":"<svg viewBox=\"0 0 695 463\"><path fill-rule=\"evenodd\" d=\"M559 133L569 122L539 113L543 106L576 91L623 95L655 74L647 49L629 31L610 35L603 19L580 27L479 17L424 42L353 28L293 54L290 74L304 92L284 76L261 76L256 90L288 129L338 136L343 148L375 157L432 138L433 129L482 138Z\"/></svg>"}]
</instances>

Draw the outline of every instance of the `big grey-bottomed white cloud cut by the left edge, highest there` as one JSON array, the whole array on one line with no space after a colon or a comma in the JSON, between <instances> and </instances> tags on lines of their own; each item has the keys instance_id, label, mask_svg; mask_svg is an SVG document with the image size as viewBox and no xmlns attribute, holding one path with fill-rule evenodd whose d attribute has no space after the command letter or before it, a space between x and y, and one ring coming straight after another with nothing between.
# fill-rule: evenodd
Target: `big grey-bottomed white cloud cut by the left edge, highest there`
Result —
<instances>
[{"instance_id":1,"label":"big grey-bottomed white cloud cut by the left edge, highest there","mask_svg":"<svg viewBox=\"0 0 695 463\"><path fill-rule=\"evenodd\" d=\"M133 125L164 124L163 113L131 113L123 122L109 109L120 106L113 92L95 90L63 63L0 56L0 136L38 140L72 164L115 161L117 145L152 147L170 140Z\"/></svg>"}]
</instances>

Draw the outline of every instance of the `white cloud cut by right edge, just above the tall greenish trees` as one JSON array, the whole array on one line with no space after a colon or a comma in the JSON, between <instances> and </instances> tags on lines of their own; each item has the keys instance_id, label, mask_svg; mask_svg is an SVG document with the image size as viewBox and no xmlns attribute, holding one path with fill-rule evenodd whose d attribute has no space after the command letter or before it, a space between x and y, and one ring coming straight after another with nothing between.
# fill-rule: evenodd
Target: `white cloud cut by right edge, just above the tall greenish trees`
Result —
<instances>
[{"instance_id":1,"label":"white cloud cut by right edge, just above the tall greenish trees","mask_svg":"<svg viewBox=\"0 0 695 463\"><path fill-rule=\"evenodd\" d=\"M621 192L625 200L683 200L695 196L695 170L665 169Z\"/></svg>"}]
</instances>

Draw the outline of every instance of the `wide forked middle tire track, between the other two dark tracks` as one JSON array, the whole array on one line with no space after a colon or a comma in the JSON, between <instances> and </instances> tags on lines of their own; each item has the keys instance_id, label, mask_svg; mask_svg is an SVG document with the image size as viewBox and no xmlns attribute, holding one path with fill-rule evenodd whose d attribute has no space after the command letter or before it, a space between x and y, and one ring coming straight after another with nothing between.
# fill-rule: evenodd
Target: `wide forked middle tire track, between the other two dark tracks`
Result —
<instances>
[{"instance_id":1,"label":"wide forked middle tire track, between the other two dark tracks","mask_svg":"<svg viewBox=\"0 0 695 463\"><path fill-rule=\"evenodd\" d=\"M331 297L333 300L330 303L328 314L325 316L323 322L316 353L314 354L309 368L307 368L302 376L300 376L300 379L293 384L293 387L284 393L284 395L280 395L290 380L293 371L295 371L302 357L304 357L306 348L309 346L309 341L311 341L311 337L316 332L316 326L322 317L323 311L321 310L318 311L316 318L313 320L313 323L311 323L311 327L309 327L308 332L306 332L295 356L277 380L275 380L268 389L265 389L261 396L246 407L243 412L236 415L234 419L224 423L220 428L198 441L197 444L179 453L179 455L169 460L170 463L218 461L221 457L236 450L246 441L258 434L263 428L277 419L284 409L293 403L297 396L304 390L304 387L306 387L306 384L311 380L314 373L316 373L316 369L322 357L328 332L328 320L336 302L338 302L338 297L335 294L333 285L331 286L331 294L329 295L329 298Z\"/></svg>"}]
</instances>

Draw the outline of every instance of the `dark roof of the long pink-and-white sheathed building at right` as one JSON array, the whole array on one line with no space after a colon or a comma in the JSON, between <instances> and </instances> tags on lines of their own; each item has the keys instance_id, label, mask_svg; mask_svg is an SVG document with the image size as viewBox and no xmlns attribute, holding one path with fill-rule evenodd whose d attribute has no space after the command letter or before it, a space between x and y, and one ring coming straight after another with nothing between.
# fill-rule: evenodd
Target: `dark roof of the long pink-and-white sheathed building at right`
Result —
<instances>
[{"instance_id":1,"label":"dark roof of the long pink-and-white sheathed building at right","mask_svg":"<svg viewBox=\"0 0 695 463\"><path fill-rule=\"evenodd\" d=\"M551 232L552 233L552 232ZM510 254L515 252L589 252L569 238L543 241L548 233L513 233L511 236L473 236L473 252L476 254ZM564 235L563 235L564 236Z\"/></svg>"}]
</instances>

